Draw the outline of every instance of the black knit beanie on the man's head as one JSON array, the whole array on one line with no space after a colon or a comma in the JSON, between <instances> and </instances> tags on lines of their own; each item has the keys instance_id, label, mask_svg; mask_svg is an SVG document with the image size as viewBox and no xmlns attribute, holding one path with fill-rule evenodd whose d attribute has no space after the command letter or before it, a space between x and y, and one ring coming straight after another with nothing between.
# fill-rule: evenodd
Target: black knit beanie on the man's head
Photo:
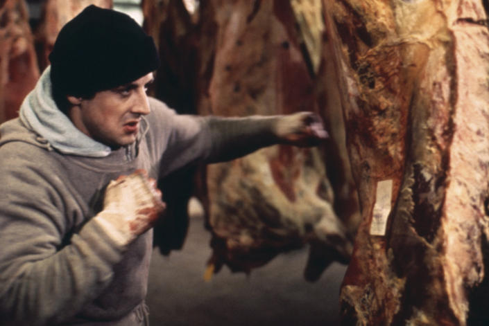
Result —
<instances>
[{"instance_id":1,"label":"black knit beanie on the man's head","mask_svg":"<svg viewBox=\"0 0 489 326\"><path fill-rule=\"evenodd\" d=\"M60 30L49 60L56 91L80 97L127 84L160 66L153 38L134 19L93 5Z\"/></svg>"}]
</instances>

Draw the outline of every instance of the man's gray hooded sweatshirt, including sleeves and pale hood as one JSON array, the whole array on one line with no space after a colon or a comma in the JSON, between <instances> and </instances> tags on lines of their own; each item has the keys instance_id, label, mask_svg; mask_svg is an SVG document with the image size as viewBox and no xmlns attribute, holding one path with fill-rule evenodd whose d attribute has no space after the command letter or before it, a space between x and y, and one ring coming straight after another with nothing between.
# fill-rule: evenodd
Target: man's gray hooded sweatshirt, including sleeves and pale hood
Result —
<instances>
[{"instance_id":1,"label":"man's gray hooded sweatshirt, including sleeves and pale hood","mask_svg":"<svg viewBox=\"0 0 489 326\"><path fill-rule=\"evenodd\" d=\"M0 126L2 325L141 325L153 231L121 246L94 223L106 185L137 169L160 179L277 141L276 117L183 116L149 103L137 142L110 150L58 110L46 69L20 118Z\"/></svg>"}]
</instances>

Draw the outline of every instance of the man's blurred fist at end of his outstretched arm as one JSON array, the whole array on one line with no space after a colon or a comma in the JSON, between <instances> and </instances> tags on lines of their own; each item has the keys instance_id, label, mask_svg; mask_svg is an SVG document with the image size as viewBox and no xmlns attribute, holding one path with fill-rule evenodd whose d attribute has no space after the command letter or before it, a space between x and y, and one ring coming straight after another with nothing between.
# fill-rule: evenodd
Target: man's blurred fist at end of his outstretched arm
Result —
<instances>
[{"instance_id":1,"label":"man's blurred fist at end of his outstretched arm","mask_svg":"<svg viewBox=\"0 0 489 326\"><path fill-rule=\"evenodd\" d=\"M318 145L328 138L323 120L312 112L282 116L277 121L275 133L284 143L300 147Z\"/></svg>"}]
</instances>

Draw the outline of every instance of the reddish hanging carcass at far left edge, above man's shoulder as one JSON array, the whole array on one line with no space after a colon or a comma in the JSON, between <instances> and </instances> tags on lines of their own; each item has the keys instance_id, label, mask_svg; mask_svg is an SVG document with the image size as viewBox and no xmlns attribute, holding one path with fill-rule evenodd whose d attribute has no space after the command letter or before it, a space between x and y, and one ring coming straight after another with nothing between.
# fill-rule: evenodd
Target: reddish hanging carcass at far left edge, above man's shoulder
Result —
<instances>
[{"instance_id":1,"label":"reddish hanging carcass at far left edge, above man's shoulder","mask_svg":"<svg viewBox=\"0 0 489 326\"><path fill-rule=\"evenodd\" d=\"M0 3L0 123L15 118L39 69L24 0Z\"/></svg>"}]
</instances>

